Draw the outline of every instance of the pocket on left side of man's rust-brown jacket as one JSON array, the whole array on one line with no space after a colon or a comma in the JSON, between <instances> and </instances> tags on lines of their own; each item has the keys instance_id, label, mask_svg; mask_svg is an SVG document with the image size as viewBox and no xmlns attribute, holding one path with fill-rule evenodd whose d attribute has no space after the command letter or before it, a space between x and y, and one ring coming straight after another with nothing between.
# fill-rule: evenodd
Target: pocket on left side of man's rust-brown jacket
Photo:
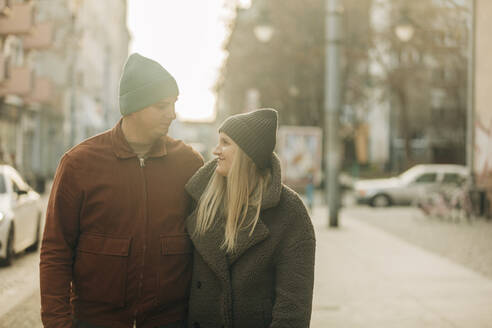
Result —
<instances>
[{"instance_id":1,"label":"pocket on left side of man's rust-brown jacket","mask_svg":"<svg viewBox=\"0 0 492 328\"><path fill-rule=\"evenodd\" d=\"M130 237L80 236L74 264L74 291L80 300L125 305L130 242Z\"/></svg>"}]
</instances>

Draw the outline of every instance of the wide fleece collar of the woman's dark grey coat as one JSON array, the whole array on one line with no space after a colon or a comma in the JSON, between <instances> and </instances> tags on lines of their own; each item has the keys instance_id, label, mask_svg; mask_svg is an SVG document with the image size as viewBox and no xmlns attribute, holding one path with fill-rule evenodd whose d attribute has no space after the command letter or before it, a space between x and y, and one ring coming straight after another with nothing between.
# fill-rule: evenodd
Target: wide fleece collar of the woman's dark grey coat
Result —
<instances>
[{"instance_id":1,"label":"wide fleece collar of the woman's dark grey coat","mask_svg":"<svg viewBox=\"0 0 492 328\"><path fill-rule=\"evenodd\" d=\"M198 202L201 195L205 191L212 174L217 166L217 160L213 160L205 164L201 169L199 169L195 175L188 181L185 188L191 197ZM265 196L263 197L261 204L261 211L275 207L280 201L280 194L282 191L281 182L281 170L280 170L280 160L277 155L272 155L272 180L268 186ZM251 208L247 216L251 218L255 215L255 209ZM250 236L250 230L240 231L238 234L237 248L232 254L226 254L224 250L220 248L222 241L224 240L224 227L222 224L215 224L210 228L207 233L202 236L193 236L193 231L196 227L196 212L193 212L186 220L186 226L191 234L193 244L195 248L203 257L205 262L208 263L210 268L221 277L223 280L229 279L228 274L228 261L229 265L232 265L241 255L243 255L249 248L255 246L256 244L262 242L269 236L268 227L260 218Z\"/></svg>"}]
</instances>

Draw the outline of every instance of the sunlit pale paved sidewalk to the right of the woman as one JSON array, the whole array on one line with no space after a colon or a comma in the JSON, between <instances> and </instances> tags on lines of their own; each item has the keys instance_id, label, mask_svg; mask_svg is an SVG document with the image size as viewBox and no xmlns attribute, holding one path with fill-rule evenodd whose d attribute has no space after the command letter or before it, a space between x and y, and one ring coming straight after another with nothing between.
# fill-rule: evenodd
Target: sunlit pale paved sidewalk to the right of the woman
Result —
<instances>
[{"instance_id":1,"label":"sunlit pale paved sidewalk to the right of the woman","mask_svg":"<svg viewBox=\"0 0 492 328\"><path fill-rule=\"evenodd\" d=\"M311 327L492 327L492 280L326 207L312 215L316 275Z\"/></svg>"}]
</instances>

